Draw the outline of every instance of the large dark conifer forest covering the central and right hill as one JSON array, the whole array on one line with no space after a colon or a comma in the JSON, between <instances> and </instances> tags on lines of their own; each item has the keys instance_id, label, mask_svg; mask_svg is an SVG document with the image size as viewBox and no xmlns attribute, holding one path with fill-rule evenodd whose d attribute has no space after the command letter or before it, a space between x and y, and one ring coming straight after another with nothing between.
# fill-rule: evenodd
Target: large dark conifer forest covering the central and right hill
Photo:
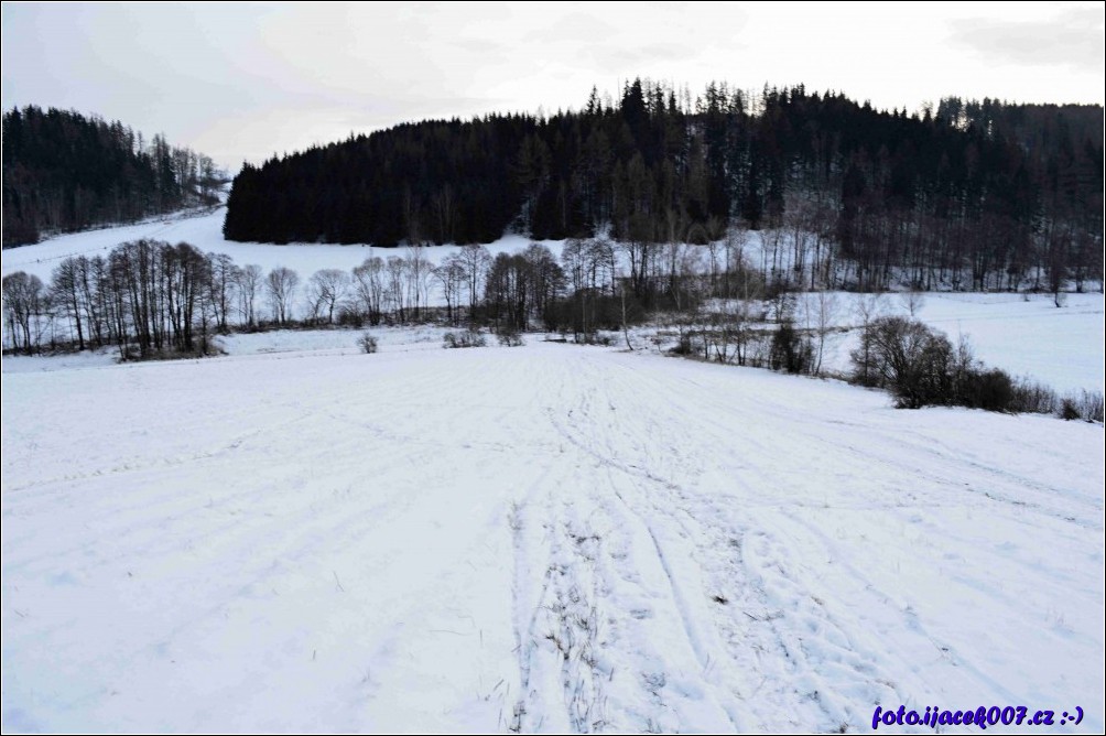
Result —
<instances>
[{"instance_id":1,"label":"large dark conifer forest covering the central and right hill","mask_svg":"<svg viewBox=\"0 0 1106 736\"><path fill-rule=\"evenodd\" d=\"M1077 289L1103 276L1097 105L877 111L803 85L635 80L578 112L399 125L247 165L223 232L263 242L646 246L789 235L782 287Z\"/></svg>"}]
</instances>

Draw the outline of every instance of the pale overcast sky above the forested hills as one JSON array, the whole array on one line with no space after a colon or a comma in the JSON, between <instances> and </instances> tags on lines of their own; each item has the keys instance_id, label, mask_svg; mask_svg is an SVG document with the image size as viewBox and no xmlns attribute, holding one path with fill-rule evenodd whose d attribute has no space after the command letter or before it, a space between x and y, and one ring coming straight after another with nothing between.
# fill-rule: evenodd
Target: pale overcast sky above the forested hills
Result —
<instances>
[{"instance_id":1,"label":"pale overcast sky above the forested hills","mask_svg":"<svg viewBox=\"0 0 1106 736\"><path fill-rule=\"evenodd\" d=\"M803 82L878 107L1103 103L1093 3L10 3L3 107L243 159L426 117L580 108L634 76Z\"/></svg>"}]
</instances>

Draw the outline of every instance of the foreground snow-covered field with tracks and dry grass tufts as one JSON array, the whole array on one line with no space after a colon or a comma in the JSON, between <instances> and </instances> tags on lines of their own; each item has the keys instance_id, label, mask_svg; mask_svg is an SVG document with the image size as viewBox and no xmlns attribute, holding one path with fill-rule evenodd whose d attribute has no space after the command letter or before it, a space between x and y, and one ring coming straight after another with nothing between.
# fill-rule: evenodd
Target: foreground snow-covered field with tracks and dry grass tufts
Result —
<instances>
[{"instance_id":1,"label":"foreground snow-covered field with tracks and dry grass tufts","mask_svg":"<svg viewBox=\"0 0 1106 736\"><path fill-rule=\"evenodd\" d=\"M542 343L2 408L6 732L1104 725L1100 427Z\"/></svg>"}]
</instances>

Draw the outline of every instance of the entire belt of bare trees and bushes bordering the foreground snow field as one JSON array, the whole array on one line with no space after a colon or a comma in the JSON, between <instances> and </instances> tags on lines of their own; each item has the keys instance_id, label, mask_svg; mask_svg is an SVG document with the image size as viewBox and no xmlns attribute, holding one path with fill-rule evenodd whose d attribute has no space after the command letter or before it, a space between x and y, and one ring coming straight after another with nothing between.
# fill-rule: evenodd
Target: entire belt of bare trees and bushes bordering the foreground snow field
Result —
<instances>
[{"instance_id":1,"label":"entire belt of bare trees and bushes bordering the foreground snow field","mask_svg":"<svg viewBox=\"0 0 1106 736\"><path fill-rule=\"evenodd\" d=\"M665 302L668 326L678 331L674 354L824 374L823 357L843 315L834 292L766 290L734 234L710 249L671 243L648 268L633 265L633 248L604 238L570 239L560 257L536 242L492 257L483 246L468 245L438 265L425 248L409 248L301 280L285 267L267 273L188 243L138 240L106 256L66 258L49 284L23 271L4 277L4 346L25 354L115 346L122 360L145 360L206 354L215 334L232 330L428 321L470 329L460 343L456 335L448 339L451 346L480 344L482 338L469 343L465 335L477 335L481 326L505 344L518 344L519 332L533 328L592 342L602 340L601 330L625 331L644 320L646 308L635 291L640 281L651 284L654 299ZM709 257L698 258L703 251ZM953 346L912 320L918 292L902 297L911 319L888 315L879 293L856 300L860 341L852 353L852 381L889 388L908 407L950 404L1102 421L1100 393L1058 396L985 369L966 342ZM700 309L706 300L712 303ZM375 351L371 336L363 344Z\"/></svg>"}]
</instances>

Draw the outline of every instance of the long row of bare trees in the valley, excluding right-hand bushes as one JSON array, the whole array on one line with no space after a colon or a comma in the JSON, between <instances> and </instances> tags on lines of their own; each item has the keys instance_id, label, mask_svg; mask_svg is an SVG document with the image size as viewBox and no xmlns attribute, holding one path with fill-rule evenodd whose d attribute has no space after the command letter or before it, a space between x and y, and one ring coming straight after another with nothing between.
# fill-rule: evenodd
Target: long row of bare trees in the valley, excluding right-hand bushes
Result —
<instances>
[{"instance_id":1,"label":"long row of bare trees in the valley, excluding right-hand bushes","mask_svg":"<svg viewBox=\"0 0 1106 736\"><path fill-rule=\"evenodd\" d=\"M745 234L708 246L568 239L560 256L540 243L494 258L483 246L449 252L435 266L424 248L371 256L351 270L309 278L286 267L265 272L188 243L124 243L106 256L63 260L49 284L23 272L3 280L4 348L117 346L124 357L205 353L212 333L290 324L382 324L428 319L498 330L592 335L661 310L709 321L703 353L745 364L766 288L747 258ZM821 286L816 283L815 286ZM812 299L828 299L824 293ZM830 303L791 308L820 371ZM783 302L781 302L782 304ZM776 310L783 313L783 308Z\"/></svg>"}]
</instances>

